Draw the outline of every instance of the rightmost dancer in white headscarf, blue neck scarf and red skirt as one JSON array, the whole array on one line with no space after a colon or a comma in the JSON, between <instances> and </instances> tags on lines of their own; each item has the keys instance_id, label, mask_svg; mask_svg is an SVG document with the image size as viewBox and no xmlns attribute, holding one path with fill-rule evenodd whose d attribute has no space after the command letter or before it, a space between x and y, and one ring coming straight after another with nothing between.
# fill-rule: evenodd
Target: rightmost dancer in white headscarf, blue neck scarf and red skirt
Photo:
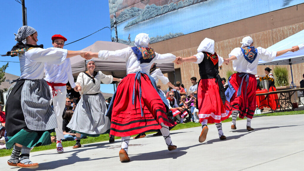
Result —
<instances>
[{"instance_id":1,"label":"rightmost dancer in white headscarf, blue neck scarf and red skirt","mask_svg":"<svg viewBox=\"0 0 304 171\"><path fill-rule=\"evenodd\" d=\"M251 119L256 109L256 85L257 80L257 64L259 59L263 61L272 61L276 56L285 54L292 49L283 51L267 51L262 47L253 47L253 40L251 37L244 37L242 46L233 49L228 60L233 60L233 69L237 71L228 79L228 89L226 90L226 109L232 115L231 129L237 129L236 120L247 117L247 130L254 130L251 128Z\"/></svg>"}]
</instances>

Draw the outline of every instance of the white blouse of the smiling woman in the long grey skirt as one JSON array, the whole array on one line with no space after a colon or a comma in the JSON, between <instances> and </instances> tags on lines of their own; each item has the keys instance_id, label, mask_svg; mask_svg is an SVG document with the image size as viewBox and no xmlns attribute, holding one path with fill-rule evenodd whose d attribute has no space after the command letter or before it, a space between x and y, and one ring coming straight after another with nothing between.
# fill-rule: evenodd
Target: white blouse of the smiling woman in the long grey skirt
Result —
<instances>
[{"instance_id":1,"label":"white blouse of the smiling woman in the long grey skirt","mask_svg":"<svg viewBox=\"0 0 304 171\"><path fill-rule=\"evenodd\" d=\"M81 86L81 91L79 92L81 96L83 94L95 94L101 92L100 91L101 81L104 84L110 84L111 82L113 82L112 75L105 75L101 71L98 71L94 79L95 79L95 83L93 82L92 78L90 78L84 72L79 73L77 77L76 85Z\"/></svg>"}]
</instances>

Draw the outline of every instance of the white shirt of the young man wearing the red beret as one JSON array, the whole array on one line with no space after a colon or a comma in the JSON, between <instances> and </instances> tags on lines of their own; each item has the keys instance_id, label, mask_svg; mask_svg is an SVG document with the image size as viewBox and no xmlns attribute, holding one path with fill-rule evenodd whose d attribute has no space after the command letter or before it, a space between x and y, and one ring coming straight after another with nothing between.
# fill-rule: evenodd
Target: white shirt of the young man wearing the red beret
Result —
<instances>
[{"instance_id":1,"label":"white shirt of the young man wearing the red beret","mask_svg":"<svg viewBox=\"0 0 304 171\"><path fill-rule=\"evenodd\" d=\"M76 86L72 75L71 61L69 58L64 60L61 65L45 63L45 78L47 82L67 83L70 82L72 89Z\"/></svg>"}]
</instances>

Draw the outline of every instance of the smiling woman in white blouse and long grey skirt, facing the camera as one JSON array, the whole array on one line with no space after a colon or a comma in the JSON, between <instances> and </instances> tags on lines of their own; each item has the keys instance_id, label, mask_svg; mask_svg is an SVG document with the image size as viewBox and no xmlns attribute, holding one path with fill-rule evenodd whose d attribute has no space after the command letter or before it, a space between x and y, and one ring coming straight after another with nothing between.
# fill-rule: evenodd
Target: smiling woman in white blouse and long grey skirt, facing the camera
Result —
<instances>
[{"instance_id":1,"label":"smiling woman in white blouse and long grey skirt, facing the camera","mask_svg":"<svg viewBox=\"0 0 304 171\"><path fill-rule=\"evenodd\" d=\"M98 137L110 129L110 120L105 116L107 105L105 98L100 91L100 83L110 84L120 79L112 75L105 75L101 71L95 71L95 61L85 61L85 72L79 73L76 81L76 88L81 94L78 105L75 108L73 117L67 125L73 132L76 132L76 144L73 148L81 147L81 134L88 137ZM110 136L111 142L114 136Z\"/></svg>"}]
</instances>

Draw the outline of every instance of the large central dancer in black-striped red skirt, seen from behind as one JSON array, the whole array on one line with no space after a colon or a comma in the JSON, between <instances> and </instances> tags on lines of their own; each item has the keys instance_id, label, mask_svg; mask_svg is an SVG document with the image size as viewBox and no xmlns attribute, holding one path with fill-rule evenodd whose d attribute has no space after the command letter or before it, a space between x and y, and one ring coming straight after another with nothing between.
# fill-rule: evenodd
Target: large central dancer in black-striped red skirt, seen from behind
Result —
<instances>
[{"instance_id":1,"label":"large central dancer in black-striped red skirt, seen from behind","mask_svg":"<svg viewBox=\"0 0 304 171\"><path fill-rule=\"evenodd\" d=\"M159 94L155 80L148 74L153 63L177 62L181 57L157 54L148 48L149 41L148 34L140 33L135 37L135 47L86 53L87 58L126 62L127 76L119 83L107 113L111 118L110 134L122 137L121 162L130 161L127 154L130 136L142 132L160 129L168 150L176 149L169 132L176 122L168 120L168 101Z\"/></svg>"}]
</instances>

